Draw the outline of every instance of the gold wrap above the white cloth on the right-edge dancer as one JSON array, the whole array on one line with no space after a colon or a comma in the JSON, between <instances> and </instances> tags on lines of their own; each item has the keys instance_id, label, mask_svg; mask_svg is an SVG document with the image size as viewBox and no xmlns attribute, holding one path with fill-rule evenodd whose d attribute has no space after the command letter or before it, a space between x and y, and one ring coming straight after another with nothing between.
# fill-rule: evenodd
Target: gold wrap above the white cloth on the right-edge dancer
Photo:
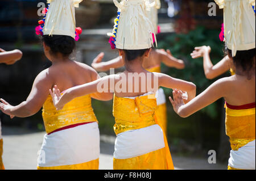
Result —
<instances>
[{"instance_id":1,"label":"gold wrap above the white cloth on the right-edge dancer","mask_svg":"<svg viewBox=\"0 0 256 181\"><path fill-rule=\"evenodd\" d=\"M226 135L230 138L232 150L255 140L255 106L244 110L226 106Z\"/></svg>"}]
</instances>

